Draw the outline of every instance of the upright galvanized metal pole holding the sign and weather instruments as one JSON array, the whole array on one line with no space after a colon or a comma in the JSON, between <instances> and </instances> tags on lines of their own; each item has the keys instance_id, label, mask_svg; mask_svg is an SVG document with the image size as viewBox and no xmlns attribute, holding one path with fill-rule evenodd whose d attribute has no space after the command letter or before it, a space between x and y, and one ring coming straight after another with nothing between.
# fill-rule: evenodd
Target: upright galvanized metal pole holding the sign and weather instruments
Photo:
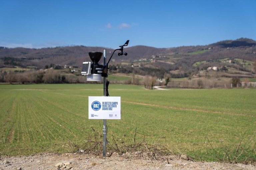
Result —
<instances>
[{"instance_id":1,"label":"upright galvanized metal pole holding the sign and weather instruments","mask_svg":"<svg viewBox=\"0 0 256 170\"><path fill-rule=\"evenodd\" d=\"M106 66L106 49L103 50L103 65ZM103 77L103 96L106 96L106 77ZM106 157L107 120L103 119L103 157Z\"/></svg>"}]
</instances>

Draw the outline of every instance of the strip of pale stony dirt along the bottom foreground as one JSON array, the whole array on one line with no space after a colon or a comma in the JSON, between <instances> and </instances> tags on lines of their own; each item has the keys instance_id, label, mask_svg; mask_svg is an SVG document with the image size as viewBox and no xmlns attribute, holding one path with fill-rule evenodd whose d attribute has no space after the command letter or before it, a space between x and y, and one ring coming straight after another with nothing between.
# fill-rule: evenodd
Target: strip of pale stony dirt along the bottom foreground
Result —
<instances>
[{"instance_id":1,"label":"strip of pale stony dirt along the bottom foreground","mask_svg":"<svg viewBox=\"0 0 256 170\"><path fill-rule=\"evenodd\" d=\"M256 170L255 165L228 164L218 162L194 162L186 155L169 156L152 161L143 153L113 153L103 158L85 153L41 153L30 156L1 156L0 170Z\"/></svg>"}]
</instances>

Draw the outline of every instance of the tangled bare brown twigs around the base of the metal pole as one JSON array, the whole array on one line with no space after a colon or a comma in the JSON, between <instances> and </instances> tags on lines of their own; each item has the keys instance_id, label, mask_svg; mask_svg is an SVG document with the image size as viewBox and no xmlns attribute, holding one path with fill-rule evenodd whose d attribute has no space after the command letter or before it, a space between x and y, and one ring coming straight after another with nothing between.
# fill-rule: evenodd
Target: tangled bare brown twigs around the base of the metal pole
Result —
<instances>
[{"instance_id":1,"label":"tangled bare brown twigs around the base of the metal pole","mask_svg":"<svg viewBox=\"0 0 256 170\"><path fill-rule=\"evenodd\" d=\"M92 128L93 129L93 128ZM137 128L136 128L137 129ZM103 134L96 132L93 129L93 133L86 133L87 137L81 141L72 142L71 140L65 140L63 142L52 144L44 151L51 152L84 152L94 153L95 155L101 155L103 150ZM166 144L165 137L160 137L155 143L149 143L146 141L146 134L138 133L135 130L133 136L123 135L122 139L116 140L113 135L112 142L106 146L108 157L113 153L117 154L135 154L136 157L142 157L151 160L163 160L168 162L166 156L174 155L172 149ZM154 163L154 162L153 162Z\"/></svg>"}]
</instances>

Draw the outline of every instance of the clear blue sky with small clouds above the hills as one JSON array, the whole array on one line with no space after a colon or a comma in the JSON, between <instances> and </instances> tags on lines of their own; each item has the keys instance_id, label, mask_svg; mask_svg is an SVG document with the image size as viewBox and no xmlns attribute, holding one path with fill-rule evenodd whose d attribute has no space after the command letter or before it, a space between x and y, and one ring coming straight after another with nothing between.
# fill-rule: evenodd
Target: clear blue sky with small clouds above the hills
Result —
<instances>
[{"instance_id":1,"label":"clear blue sky with small clouds above the hills","mask_svg":"<svg viewBox=\"0 0 256 170\"><path fill-rule=\"evenodd\" d=\"M256 0L2 0L0 46L117 48L256 40Z\"/></svg>"}]
</instances>

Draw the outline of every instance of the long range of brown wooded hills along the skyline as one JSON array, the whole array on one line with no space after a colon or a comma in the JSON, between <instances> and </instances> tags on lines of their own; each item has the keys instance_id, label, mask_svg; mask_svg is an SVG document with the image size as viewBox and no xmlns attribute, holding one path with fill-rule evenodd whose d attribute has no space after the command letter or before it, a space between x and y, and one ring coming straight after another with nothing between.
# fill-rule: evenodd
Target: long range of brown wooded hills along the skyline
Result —
<instances>
[{"instance_id":1,"label":"long range of brown wooded hills along the skyline","mask_svg":"<svg viewBox=\"0 0 256 170\"><path fill-rule=\"evenodd\" d=\"M40 69L50 64L81 67L83 61L90 61L88 52L93 48L101 49L87 46L41 49L0 47L0 67L33 66ZM113 50L107 48L107 57L110 57ZM157 77L170 73L172 76L186 77L197 75L199 70L205 70L210 66L218 66L218 68L225 66L248 72L253 77L256 41L240 38L209 45L173 48L138 45L125 47L124 52L128 55L118 56L116 52L110 62L113 66L122 65L120 68L123 69L119 71L124 73L153 74ZM228 60L230 60L229 64ZM102 63L102 60L100 62Z\"/></svg>"}]
</instances>

